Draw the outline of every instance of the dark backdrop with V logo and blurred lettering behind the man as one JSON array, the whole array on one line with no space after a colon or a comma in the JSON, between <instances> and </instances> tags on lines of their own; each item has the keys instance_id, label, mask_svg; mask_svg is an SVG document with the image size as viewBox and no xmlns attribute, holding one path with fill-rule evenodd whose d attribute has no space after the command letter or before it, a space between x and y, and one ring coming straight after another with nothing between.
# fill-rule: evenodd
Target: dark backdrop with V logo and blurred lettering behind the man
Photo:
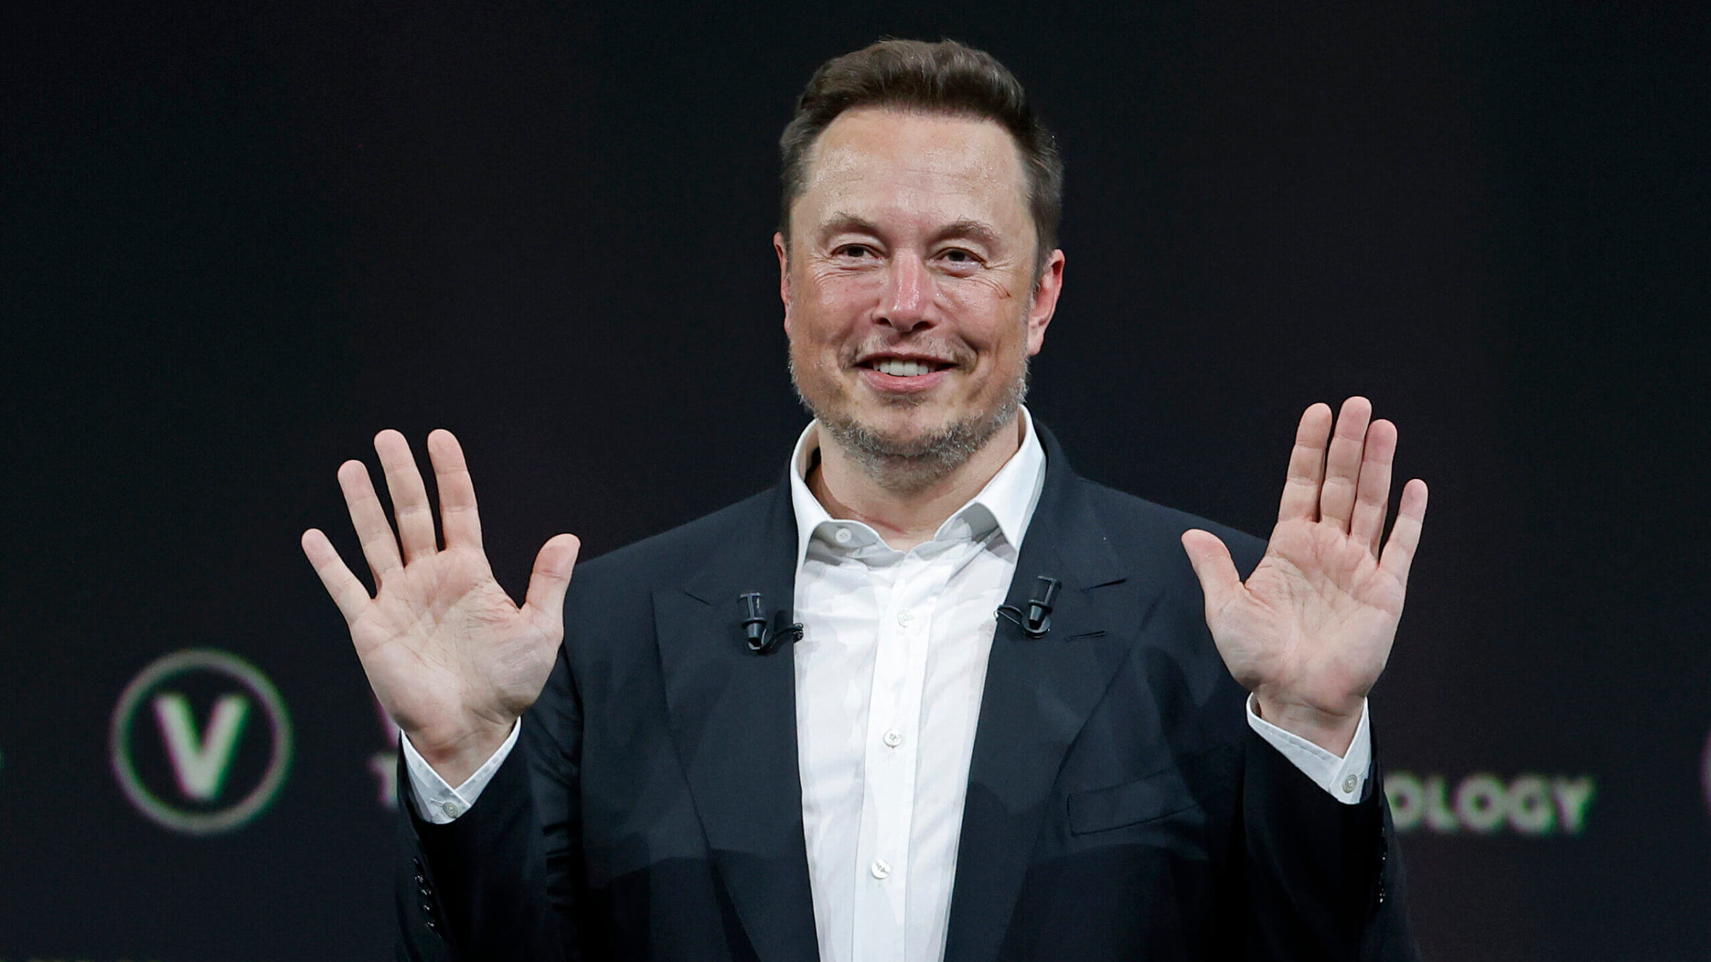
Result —
<instances>
[{"instance_id":1,"label":"dark backdrop with V logo and blurred lettering behind the man","mask_svg":"<svg viewBox=\"0 0 1711 962\"><path fill-rule=\"evenodd\" d=\"M1400 425L1432 508L1374 719L1432 957L1702 957L1689 5L41 7L0 65L0 960L388 953L388 734L298 534L356 558L334 469L383 426L459 431L513 591L556 531L770 483L773 140L881 34L994 51L1059 132L1030 404L1080 471L1264 532L1305 404ZM185 649L281 707L202 668L120 710ZM236 827L115 774L217 815L282 716Z\"/></svg>"}]
</instances>

